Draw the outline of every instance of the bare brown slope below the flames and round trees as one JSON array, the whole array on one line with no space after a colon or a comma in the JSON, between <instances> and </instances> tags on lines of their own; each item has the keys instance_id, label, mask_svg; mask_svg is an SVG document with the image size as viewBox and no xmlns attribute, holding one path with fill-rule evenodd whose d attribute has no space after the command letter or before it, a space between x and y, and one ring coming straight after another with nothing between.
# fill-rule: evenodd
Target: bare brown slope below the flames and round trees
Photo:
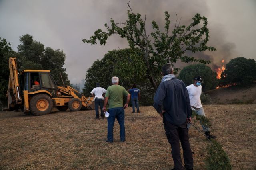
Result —
<instances>
[{"instance_id":1,"label":"bare brown slope below the flames and round trees","mask_svg":"<svg viewBox=\"0 0 256 170\"><path fill-rule=\"evenodd\" d=\"M213 104L256 104L256 85L250 87L231 86L205 92Z\"/></svg>"}]
</instances>

